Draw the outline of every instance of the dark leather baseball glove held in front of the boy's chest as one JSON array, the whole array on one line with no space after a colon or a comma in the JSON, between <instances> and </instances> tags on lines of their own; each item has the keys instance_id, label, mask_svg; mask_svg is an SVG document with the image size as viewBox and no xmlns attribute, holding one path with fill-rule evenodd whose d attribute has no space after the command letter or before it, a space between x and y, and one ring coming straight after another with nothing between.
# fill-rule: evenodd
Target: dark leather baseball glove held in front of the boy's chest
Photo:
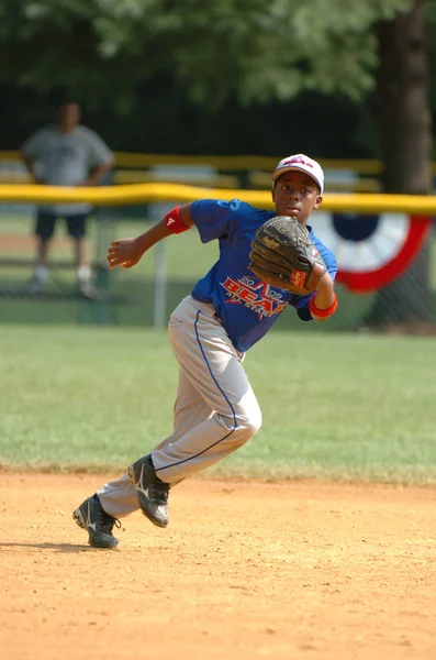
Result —
<instances>
[{"instance_id":1,"label":"dark leather baseball glove held in front of the boy's chest","mask_svg":"<svg viewBox=\"0 0 436 660\"><path fill-rule=\"evenodd\" d=\"M290 216L271 218L257 230L249 260L260 279L302 296L317 289L327 270L305 227Z\"/></svg>"}]
</instances>

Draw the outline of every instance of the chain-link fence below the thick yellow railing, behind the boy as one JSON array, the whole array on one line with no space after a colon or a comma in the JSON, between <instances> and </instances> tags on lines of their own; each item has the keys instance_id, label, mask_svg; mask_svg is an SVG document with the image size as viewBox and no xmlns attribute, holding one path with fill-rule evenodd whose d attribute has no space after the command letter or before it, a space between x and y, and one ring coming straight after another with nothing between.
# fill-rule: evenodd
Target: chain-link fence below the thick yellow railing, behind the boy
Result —
<instances>
[{"instance_id":1,"label":"chain-link fence below the thick yellow railing, behind the boy","mask_svg":"<svg viewBox=\"0 0 436 660\"><path fill-rule=\"evenodd\" d=\"M171 206L171 205L170 205ZM180 298L213 265L217 244L202 244L195 231L157 244L132 270L108 271L107 249L115 238L134 237L161 218L163 207L125 207L97 210L89 219L96 300L83 299L76 282L72 245L65 223L56 226L51 248L46 289L33 294L29 282L35 264L34 208L0 206L0 322L100 323L163 327ZM436 328L436 232L407 272L378 290L355 293L338 284L339 307L325 324L304 329L405 330L432 332ZM284 311L278 330L302 329L297 315Z\"/></svg>"}]
</instances>

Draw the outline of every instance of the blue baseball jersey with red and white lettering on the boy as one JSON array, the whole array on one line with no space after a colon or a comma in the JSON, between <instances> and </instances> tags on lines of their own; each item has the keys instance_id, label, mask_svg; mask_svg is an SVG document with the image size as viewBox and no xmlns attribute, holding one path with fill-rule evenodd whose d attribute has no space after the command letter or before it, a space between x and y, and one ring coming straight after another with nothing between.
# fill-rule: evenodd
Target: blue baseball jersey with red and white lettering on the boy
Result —
<instances>
[{"instance_id":1,"label":"blue baseball jersey with red and white lettering on the boy","mask_svg":"<svg viewBox=\"0 0 436 660\"><path fill-rule=\"evenodd\" d=\"M216 239L220 242L217 262L191 295L214 306L233 345L242 352L268 332L288 305L297 309L302 320L312 319L309 300L313 294L298 296L266 284L249 268L250 242L259 227L276 215L239 199L201 199L191 205L191 217L201 241L209 243ZM308 230L335 278L337 266L333 252L314 235L312 228L308 226Z\"/></svg>"}]
</instances>

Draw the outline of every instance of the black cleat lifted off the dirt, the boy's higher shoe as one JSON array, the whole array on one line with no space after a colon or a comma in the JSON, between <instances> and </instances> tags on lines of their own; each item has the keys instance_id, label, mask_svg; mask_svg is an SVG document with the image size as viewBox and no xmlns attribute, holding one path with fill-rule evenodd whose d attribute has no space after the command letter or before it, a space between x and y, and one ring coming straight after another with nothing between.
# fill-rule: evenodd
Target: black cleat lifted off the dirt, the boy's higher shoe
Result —
<instances>
[{"instance_id":1,"label":"black cleat lifted off the dirt, the boy's higher shoe","mask_svg":"<svg viewBox=\"0 0 436 660\"><path fill-rule=\"evenodd\" d=\"M137 502L144 516L157 527L167 527L170 485L156 476L150 454L128 465L127 473L136 488Z\"/></svg>"}]
</instances>

